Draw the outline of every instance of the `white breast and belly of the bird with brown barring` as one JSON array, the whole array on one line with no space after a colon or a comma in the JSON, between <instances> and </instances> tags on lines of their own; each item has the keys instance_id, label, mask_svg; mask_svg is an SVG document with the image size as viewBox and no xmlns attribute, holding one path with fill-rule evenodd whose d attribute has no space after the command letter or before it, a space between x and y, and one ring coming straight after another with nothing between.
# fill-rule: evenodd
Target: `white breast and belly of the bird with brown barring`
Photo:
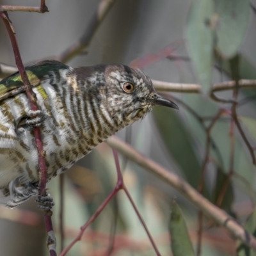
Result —
<instances>
[{"instance_id":1,"label":"white breast and belly of the bird with brown barring","mask_svg":"<svg viewBox=\"0 0 256 256\"><path fill-rule=\"evenodd\" d=\"M47 179L70 168L117 129L104 102L86 92L90 81L77 81L69 70L50 72L33 88L45 116L40 126ZM29 111L26 93L0 102L0 189L16 177L39 180L33 131L19 131L20 118Z\"/></svg>"}]
</instances>

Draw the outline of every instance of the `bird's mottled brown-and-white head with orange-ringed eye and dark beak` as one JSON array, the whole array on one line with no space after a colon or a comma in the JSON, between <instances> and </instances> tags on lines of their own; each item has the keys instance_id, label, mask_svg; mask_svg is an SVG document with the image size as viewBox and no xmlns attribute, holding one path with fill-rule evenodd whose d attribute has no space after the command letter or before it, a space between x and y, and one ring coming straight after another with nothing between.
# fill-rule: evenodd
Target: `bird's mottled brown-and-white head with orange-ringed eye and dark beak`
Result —
<instances>
[{"instance_id":1,"label":"bird's mottled brown-and-white head with orange-ringed eye and dark beak","mask_svg":"<svg viewBox=\"0 0 256 256\"><path fill-rule=\"evenodd\" d=\"M106 100L113 115L125 122L125 125L142 118L153 106L178 106L157 94L152 81L139 69L125 65L107 65L104 71L106 81Z\"/></svg>"}]
</instances>

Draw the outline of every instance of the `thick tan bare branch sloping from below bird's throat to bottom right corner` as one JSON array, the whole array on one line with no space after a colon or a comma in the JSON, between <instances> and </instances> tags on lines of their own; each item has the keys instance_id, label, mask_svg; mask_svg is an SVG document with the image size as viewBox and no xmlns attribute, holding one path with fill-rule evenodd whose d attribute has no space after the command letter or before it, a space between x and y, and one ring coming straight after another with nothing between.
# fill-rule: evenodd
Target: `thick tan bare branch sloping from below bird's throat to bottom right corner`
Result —
<instances>
[{"instance_id":1,"label":"thick tan bare branch sloping from below bird's throat to bottom right corner","mask_svg":"<svg viewBox=\"0 0 256 256\"><path fill-rule=\"evenodd\" d=\"M130 145L127 145L124 141L116 138L115 136L112 136L106 142L110 147L116 148L116 150L124 154L124 156L131 159L131 161L139 164L146 170L159 177L159 179L164 180L164 182L177 189L177 191L188 198L188 200L195 205L195 207L200 209L205 216L211 218L219 225L227 228L232 236L240 239L243 241L243 243L253 248L253 250L256 250L256 239L254 236L252 236L252 234L249 234L246 230L244 230L244 228L239 225L234 218L204 198L204 196L198 193L198 191L192 188L187 182L180 179L172 172L166 170L161 165L155 163L148 157L143 156L143 154L140 154L140 152L136 151Z\"/></svg>"}]
</instances>

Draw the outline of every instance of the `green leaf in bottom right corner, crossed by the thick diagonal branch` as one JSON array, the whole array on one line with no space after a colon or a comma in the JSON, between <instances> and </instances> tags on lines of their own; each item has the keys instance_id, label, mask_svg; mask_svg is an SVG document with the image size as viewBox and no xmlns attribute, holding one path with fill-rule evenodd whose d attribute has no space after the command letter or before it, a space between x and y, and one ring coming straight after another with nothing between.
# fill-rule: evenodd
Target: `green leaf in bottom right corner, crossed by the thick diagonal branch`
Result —
<instances>
[{"instance_id":1,"label":"green leaf in bottom right corner, crossed by the thick diagonal branch","mask_svg":"<svg viewBox=\"0 0 256 256\"><path fill-rule=\"evenodd\" d=\"M256 236L256 209L249 216L244 225L245 230ZM239 241L237 243L237 256L256 256L256 252Z\"/></svg>"}]
</instances>

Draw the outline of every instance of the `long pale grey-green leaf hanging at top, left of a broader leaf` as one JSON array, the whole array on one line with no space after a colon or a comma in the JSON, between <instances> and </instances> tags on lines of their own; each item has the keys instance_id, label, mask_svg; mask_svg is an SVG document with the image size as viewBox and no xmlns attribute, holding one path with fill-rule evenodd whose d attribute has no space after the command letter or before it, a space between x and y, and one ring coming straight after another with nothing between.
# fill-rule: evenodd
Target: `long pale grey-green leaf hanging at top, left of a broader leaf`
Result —
<instances>
[{"instance_id":1,"label":"long pale grey-green leaf hanging at top, left of a broader leaf","mask_svg":"<svg viewBox=\"0 0 256 256\"><path fill-rule=\"evenodd\" d=\"M209 89L212 77L214 37L210 23L213 10L212 0L193 0L186 28L189 55L204 92Z\"/></svg>"}]
</instances>

